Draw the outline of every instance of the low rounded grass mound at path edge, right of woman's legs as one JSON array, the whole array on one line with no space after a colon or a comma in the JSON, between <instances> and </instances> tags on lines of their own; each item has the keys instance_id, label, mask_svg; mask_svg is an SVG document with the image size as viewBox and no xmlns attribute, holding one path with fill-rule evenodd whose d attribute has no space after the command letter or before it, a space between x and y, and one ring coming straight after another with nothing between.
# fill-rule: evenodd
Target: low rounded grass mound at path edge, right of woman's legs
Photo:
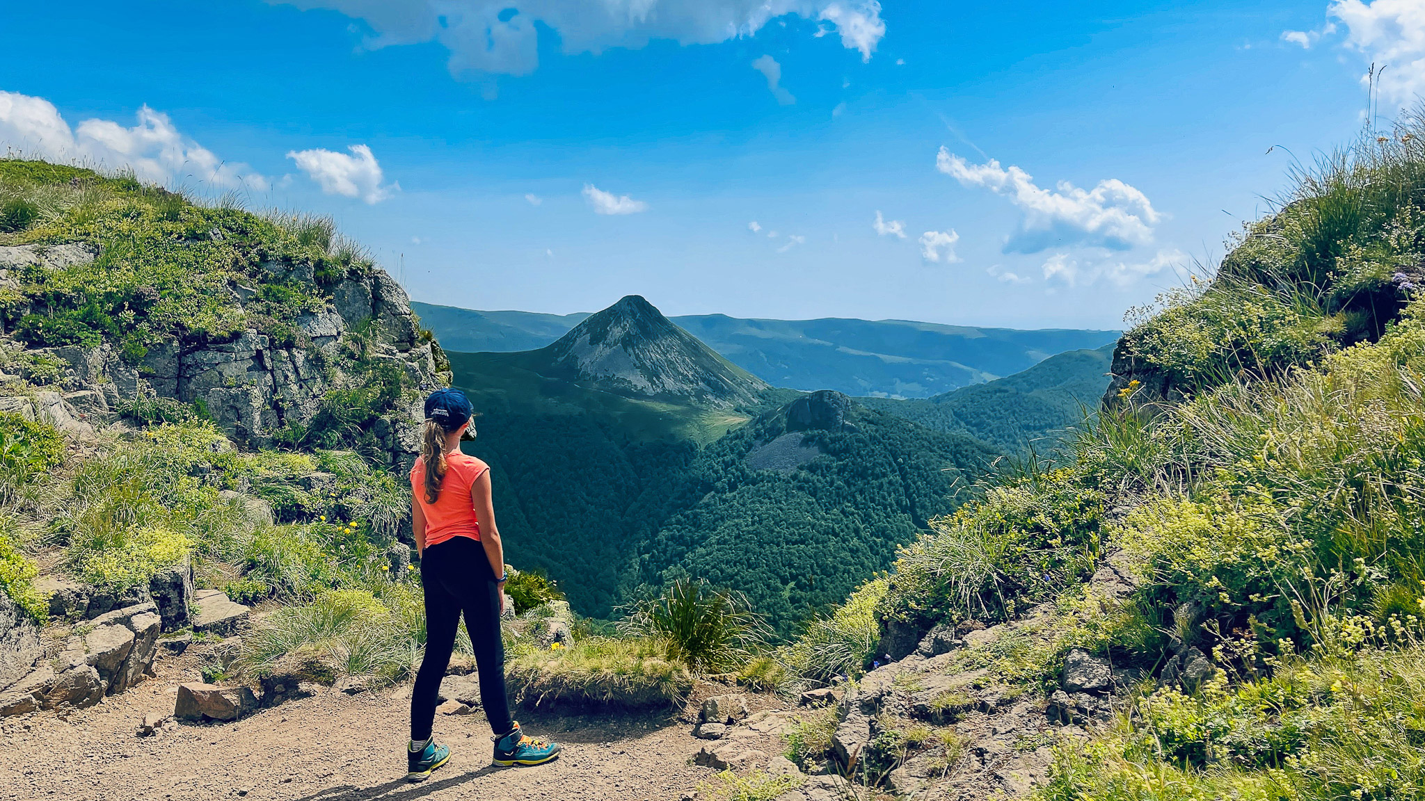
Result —
<instances>
[{"instance_id":1,"label":"low rounded grass mound at path edge, right of woman's legs","mask_svg":"<svg viewBox=\"0 0 1425 801\"><path fill-rule=\"evenodd\" d=\"M512 697L532 706L611 708L674 707L693 691L693 677L656 639L580 640L532 650L506 663Z\"/></svg>"}]
</instances>

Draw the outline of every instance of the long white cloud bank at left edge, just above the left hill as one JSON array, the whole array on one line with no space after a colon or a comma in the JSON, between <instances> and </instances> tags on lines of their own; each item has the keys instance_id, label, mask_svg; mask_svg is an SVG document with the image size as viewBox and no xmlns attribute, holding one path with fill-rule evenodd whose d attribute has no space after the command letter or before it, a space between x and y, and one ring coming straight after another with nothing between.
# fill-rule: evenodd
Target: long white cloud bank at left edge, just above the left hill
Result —
<instances>
[{"instance_id":1,"label":"long white cloud bank at left edge, just above the left hill","mask_svg":"<svg viewBox=\"0 0 1425 801\"><path fill-rule=\"evenodd\" d=\"M127 168L141 181L157 184L191 180L222 188L268 188L268 180L247 164L227 162L178 133L167 114L144 105L135 117L138 124L131 128L111 120L84 120L71 131L48 100L0 91L0 150Z\"/></svg>"}]
</instances>

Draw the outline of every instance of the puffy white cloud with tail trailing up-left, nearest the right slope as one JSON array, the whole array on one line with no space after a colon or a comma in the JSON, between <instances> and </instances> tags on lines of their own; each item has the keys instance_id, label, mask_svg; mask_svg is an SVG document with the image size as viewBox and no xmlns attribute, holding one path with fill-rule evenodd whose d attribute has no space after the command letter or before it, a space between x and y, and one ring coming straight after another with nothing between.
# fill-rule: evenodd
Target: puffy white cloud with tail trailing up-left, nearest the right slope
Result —
<instances>
[{"instance_id":1,"label":"puffy white cloud with tail trailing up-left, nearest the right slope","mask_svg":"<svg viewBox=\"0 0 1425 801\"><path fill-rule=\"evenodd\" d=\"M943 147L935 165L965 187L1009 198L1025 212L1019 229L1005 242L1006 252L1035 254L1070 244L1126 251L1151 242L1160 218L1147 195L1117 178L1099 181L1093 190L1060 181L1050 191L1035 185L1019 167L1006 170L993 158L969 164Z\"/></svg>"}]
</instances>

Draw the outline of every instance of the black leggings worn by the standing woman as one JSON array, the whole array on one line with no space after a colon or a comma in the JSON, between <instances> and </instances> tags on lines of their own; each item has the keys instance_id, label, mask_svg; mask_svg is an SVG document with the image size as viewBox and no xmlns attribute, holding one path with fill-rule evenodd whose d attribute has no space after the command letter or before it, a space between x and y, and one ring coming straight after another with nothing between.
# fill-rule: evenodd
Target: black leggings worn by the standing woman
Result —
<instances>
[{"instance_id":1,"label":"black leggings worn by the standing woman","mask_svg":"<svg viewBox=\"0 0 1425 801\"><path fill-rule=\"evenodd\" d=\"M500 586L484 556L484 546L470 537L450 537L426 549L420 557L420 584L426 590L426 656L410 691L410 738L430 737L436 718L440 680L450 664L455 634L465 611L465 629L480 671L480 704L494 734L514 728L504 698L504 643L500 640Z\"/></svg>"}]
</instances>

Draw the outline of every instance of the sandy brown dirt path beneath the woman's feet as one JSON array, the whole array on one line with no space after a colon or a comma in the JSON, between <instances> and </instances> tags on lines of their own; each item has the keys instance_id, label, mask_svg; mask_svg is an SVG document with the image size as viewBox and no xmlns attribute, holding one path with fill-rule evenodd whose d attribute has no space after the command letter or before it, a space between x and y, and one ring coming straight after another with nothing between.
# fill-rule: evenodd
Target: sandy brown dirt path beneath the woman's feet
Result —
<instances>
[{"instance_id":1,"label":"sandy brown dirt path beneath the woman's feet","mask_svg":"<svg viewBox=\"0 0 1425 801\"><path fill-rule=\"evenodd\" d=\"M524 711L526 730L564 745L554 763L490 765L484 717L436 715L450 763L405 781L409 687L323 691L228 724L182 724L138 737L145 713L171 714L188 670L164 660L158 678L66 718L36 713L0 728L0 800L415 798L663 801L711 775L688 764L704 745L691 724L661 715L560 717ZM770 753L781 748L768 737Z\"/></svg>"}]
</instances>

